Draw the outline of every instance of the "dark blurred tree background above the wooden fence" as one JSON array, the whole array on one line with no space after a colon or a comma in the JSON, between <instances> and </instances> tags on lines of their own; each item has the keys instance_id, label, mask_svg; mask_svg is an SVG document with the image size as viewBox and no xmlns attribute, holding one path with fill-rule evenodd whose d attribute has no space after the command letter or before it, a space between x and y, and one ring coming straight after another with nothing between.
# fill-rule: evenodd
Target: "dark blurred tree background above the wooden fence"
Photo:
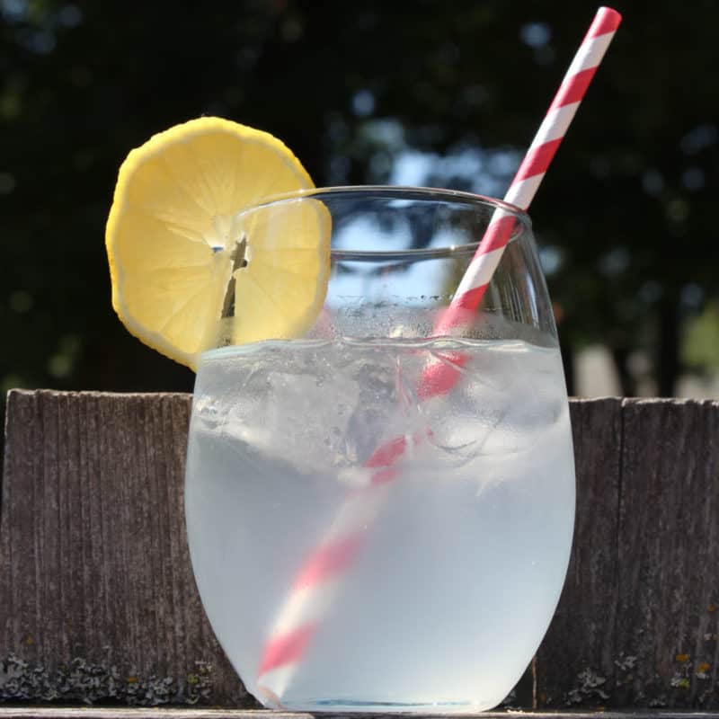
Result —
<instances>
[{"instance_id":1,"label":"dark blurred tree background above the wooden fence","mask_svg":"<svg viewBox=\"0 0 719 719\"><path fill-rule=\"evenodd\" d=\"M501 196L597 9L192 5L0 0L3 394L191 390L111 310L117 170L155 132L217 114L282 138L317 185L391 182L411 155L432 160L422 184ZM719 367L719 4L615 6L624 23L531 215L567 366L601 343L624 394L672 395Z\"/></svg>"}]
</instances>

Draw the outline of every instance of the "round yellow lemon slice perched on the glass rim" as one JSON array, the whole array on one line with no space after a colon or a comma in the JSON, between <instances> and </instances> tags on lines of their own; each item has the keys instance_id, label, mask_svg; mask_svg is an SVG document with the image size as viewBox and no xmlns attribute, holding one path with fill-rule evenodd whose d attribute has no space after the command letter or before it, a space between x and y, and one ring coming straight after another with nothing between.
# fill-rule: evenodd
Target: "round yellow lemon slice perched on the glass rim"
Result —
<instances>
[{"instance_id":1,"label":"round yellow lemon slice perched on the glass rim","mask_svg":"<svg viewBox=\"0 0 719 719\"><path fill-rule=\"evenodd\" d=\"M190 368L218 343L305 333L329 279L327 209L242 210L312 187L279 139L229 120L191 120L132 150L105 236L122 323Z\"/></svg>"}]
</instances>

